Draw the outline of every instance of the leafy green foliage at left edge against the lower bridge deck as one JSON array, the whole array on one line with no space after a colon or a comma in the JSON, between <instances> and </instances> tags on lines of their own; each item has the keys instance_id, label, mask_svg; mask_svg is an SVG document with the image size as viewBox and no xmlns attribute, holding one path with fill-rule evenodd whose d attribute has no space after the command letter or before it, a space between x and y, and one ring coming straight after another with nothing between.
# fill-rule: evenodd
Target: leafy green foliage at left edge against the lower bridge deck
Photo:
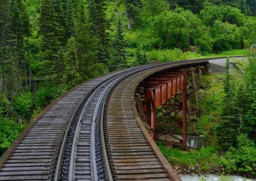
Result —
<instances>
[{"instance_id":1,"label":"leafy green foliage at left edge against the lower bridge deck","mask_svg":"<svg viewBox=\"0 0 256 181\"><path fill-rule=\"evenodd\" d=\"M0 118L0 154L3 154L25 127L26 124L22 122Z\"/></svg>"}]
</instances>

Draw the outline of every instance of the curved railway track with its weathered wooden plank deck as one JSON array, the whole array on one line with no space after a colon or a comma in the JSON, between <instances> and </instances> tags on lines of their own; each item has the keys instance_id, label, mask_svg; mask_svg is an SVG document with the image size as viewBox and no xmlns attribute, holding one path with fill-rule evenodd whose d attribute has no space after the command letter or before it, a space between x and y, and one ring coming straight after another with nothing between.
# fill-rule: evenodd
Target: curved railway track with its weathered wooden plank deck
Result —
<instances>
[{"instance_id":1,"label":"curved railway track with its weathered wooden plank deck","mask_svg":"<svg viewBox=\"0 0 256 181\"><path fill-rule=\"evenodd\" d=\"M180 180L139 119L133 94L153 73L206 62L150 64L83 83L4 154L0 180Z\"/></svg>"}]
</instances>

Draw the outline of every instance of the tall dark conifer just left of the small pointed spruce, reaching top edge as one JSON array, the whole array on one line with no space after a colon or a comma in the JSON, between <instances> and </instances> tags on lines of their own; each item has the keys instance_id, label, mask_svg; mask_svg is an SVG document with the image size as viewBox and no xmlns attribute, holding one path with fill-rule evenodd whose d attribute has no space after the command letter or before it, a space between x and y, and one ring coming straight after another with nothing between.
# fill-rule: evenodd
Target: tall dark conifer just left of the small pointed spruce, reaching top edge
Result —
<instances>
[{"instance_id":1,"label":"tall dark conifer just left of the small pointed spruce, reaching top edge","mask_svg":"<svg viewBox=\"0 0 256 181\"><path fill-rule=\"evenodd\" d=\"M105 18L104 4L104 0L90 0L89 12L93 34L99 39L97 61L107 65L109 61L109 40L106 33L108 24Z\"/></svg>"}]
</instances>

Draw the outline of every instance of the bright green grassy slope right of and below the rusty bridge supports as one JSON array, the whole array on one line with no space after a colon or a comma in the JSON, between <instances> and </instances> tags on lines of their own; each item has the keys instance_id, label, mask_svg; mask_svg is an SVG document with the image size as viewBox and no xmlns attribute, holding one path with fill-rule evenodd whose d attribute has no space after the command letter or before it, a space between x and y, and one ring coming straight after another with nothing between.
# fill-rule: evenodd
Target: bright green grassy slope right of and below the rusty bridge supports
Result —
<instances>
[{"instance_id":1,"label":"bright green grassy slope right of and below the rusty bridge supports","mask_svg":"<svg viewBox=\"0 0 256 181\"><path fill-rule=\"evenodd\" d=\"M196 122L196 131L204 135L209 147L200 150L182 150L165 148L159 144L159 148L164 156L173 166L193 167L200 164L200 170L209 171L219 163L219 157L216 154L217 147L215 138L216 122L220 120L221 104L223 101L223 78L225 75L205 75L204 82L207 89L200 92L200 106L202 108L202 117Z\"/></svg>"}]
</instances>

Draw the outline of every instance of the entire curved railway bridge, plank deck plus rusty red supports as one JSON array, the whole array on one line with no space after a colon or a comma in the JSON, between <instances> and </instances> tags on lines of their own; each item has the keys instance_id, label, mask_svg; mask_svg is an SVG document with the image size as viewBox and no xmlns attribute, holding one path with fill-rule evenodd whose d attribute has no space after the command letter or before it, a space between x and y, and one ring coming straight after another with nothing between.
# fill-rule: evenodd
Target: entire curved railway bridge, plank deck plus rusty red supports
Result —
<instances>
[{"instance_id":1,"label":"entire curved railway bridge, plank deck plus rusty red supports","mask_svg":"<svg viewBox=\"0 0 256 181\"><path fill-rule=\"evenodd\" d=\"M181 129L186 149L189 80L196 89L207 62L149 64L77 86L6 150L0 180L180 180L155 140ZM171 99L177 107L166 111Z\"/></svg>"}]
</instances>

